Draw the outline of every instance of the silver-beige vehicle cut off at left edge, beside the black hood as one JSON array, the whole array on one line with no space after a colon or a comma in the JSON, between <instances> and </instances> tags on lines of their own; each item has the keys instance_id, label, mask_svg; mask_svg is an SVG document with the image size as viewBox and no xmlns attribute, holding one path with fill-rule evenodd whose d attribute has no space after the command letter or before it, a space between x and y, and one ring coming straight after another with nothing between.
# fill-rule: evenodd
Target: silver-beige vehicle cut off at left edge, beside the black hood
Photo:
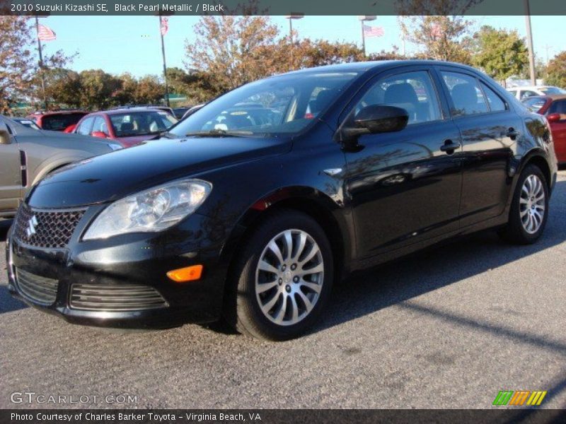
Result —
<instances>
[{"instance_id":1,"label":"silver-beige vehicle cut off at left edge, beside the black hood","mask_svg":"<svg viewBox=\"0 0 566 424\"><path fill-rule=\"evenodd\" d=\"M0 218L13 216L25 192L50 172L119 148L114 141L31 129L0 115Z\"/></svg>"}]
</instances>

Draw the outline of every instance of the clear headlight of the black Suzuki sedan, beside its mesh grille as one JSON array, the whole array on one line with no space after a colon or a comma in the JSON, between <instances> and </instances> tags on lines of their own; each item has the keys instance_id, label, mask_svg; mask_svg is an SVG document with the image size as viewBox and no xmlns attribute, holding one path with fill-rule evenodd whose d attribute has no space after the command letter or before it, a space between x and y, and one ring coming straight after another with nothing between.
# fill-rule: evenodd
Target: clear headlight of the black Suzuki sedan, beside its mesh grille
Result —
<instances>
[{"instance_id":1,"label":"clear headlight of the black Suzuki sedan, beside its mesh grille","mask_svg":"<svg viewBox=\"0 0 566 424\"><path fill-rule=\"evenodd\" d=\"M125 197L100 213L83 240L165 230L195 212L211 190L209 182L185 179Z\"/></svg>"}]
</instances>

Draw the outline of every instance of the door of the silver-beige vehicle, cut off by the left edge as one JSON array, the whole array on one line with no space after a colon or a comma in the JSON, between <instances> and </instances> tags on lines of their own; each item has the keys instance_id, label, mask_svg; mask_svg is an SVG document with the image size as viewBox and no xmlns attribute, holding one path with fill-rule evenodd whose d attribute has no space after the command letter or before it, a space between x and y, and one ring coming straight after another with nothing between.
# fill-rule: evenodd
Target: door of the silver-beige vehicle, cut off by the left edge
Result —
<instances>
[{"instance_id":1,"label":"door of the silver-beige vehicle, cut off by the left edge","mask_svg":"<svg viewBox=\"0 0 566 424\"><path fill-rule=\"evenodd\" d=\"M0 216L16 211L22 194L18 143L10 126L0 117Z\"/></svg>"}]
</instances>

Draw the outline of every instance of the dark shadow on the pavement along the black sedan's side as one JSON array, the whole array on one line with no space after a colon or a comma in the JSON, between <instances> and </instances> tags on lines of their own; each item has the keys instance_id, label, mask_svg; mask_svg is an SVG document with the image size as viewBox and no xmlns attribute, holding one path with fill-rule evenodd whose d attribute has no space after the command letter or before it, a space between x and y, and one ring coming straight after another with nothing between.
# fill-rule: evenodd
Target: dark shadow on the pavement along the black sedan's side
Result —
<instances>
[{"instance_id":1,"label":"dark shadow on the pavement along the black sedan's side","mask_svg":"<svg viewBox=\"0 0 566 424\"><path fill-rule=\"evenodd\" d=\"M545 232L535 244L512 245L494 230L486 230L356 273L333 288L327 312L313 332L391 305L410 307L406 303L412 298L565 242L566 181L556 185Z\"/></svg>"}]
</instances>

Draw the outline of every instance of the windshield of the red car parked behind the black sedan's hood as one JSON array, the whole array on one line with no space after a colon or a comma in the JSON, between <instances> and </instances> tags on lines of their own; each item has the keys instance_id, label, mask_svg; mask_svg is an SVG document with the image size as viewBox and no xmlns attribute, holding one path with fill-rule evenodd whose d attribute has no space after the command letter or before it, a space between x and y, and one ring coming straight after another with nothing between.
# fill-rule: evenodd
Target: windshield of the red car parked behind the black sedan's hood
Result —
<instances>
[{"instance_id":1,"label":"windshield of the red car parked behind the black sedan's hood","mask_svg":"<svg viewBox=\"0 0 566 424\"><path fill-rule=\"evenodd\" d=\"M146 136L167 131L177 119L161 110L144 110L110 114L110 123L117 137Z\"/></svg>"}]
</instances>

